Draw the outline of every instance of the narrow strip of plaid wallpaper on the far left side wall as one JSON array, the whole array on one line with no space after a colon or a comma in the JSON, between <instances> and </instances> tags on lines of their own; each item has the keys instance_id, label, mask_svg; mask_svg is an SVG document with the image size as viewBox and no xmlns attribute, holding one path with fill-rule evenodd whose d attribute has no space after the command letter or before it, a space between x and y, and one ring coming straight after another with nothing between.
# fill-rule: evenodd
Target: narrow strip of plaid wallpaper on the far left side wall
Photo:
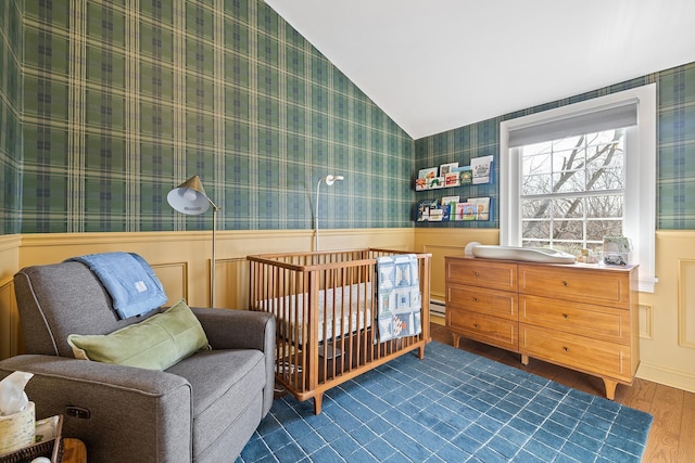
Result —
<instances>
[{"instance_id":1,"label":"narrow strip of plaid wallpaper on the far left side wall","mask_svg":"<svg viewBox=\"0 0 695 463\"><path fill-rule=\"evenodd\" d=\"M0 234L21 229L22 28L17 0L0 2Z\"/></svg>"}]
</instances>

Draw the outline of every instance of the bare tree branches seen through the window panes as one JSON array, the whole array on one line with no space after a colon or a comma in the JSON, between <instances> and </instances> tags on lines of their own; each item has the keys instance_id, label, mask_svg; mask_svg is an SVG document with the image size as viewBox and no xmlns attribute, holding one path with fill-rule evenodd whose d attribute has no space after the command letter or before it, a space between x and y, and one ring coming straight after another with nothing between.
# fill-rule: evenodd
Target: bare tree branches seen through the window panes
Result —
<instances>
[{"instance_id":1,"label":"bare tree branches seen through the window panes","mask_svg":"<svg viewBox=\"0 0 695 463\"><path fill-rule=\"evenodd\" d=\"M578 255L622 234L623 129L521 146L522 245Z\"/></svg>"}]
</instances>

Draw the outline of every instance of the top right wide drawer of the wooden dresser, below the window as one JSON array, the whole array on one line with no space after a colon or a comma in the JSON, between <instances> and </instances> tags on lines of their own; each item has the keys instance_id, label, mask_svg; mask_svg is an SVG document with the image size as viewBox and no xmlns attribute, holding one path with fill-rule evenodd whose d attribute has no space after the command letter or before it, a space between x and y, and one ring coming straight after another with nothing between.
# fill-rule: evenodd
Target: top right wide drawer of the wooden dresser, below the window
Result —
<instances>
[{"instance_id":1,"label":"top right wide drawer of the wooden dresser, below the window","mask_svg":"<svg viewBox=\"0 0 695 463\"><path fill-rule=\"evenodd\" d=\"M628 308L630 273L563 266L519 266L519 293Z\"/></svg>"}]
</instances>

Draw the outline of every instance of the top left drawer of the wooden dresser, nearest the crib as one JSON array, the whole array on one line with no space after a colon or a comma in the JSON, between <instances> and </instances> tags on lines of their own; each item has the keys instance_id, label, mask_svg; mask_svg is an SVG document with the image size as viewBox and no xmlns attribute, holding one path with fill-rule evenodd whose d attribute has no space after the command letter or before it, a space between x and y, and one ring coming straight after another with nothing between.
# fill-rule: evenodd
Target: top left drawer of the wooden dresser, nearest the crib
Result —
<instances>
[{"instance_id":1,"label":"top left drawer of the wooden dresser, nearest the crib","mask_svg":"<svg viewBox=\"0 0 695 463\"><path fill-rule=\"evenodd\" d=\"M516 292L517 265L473 258L446 258L446 281Z\"/></svg>"}]
</instances>

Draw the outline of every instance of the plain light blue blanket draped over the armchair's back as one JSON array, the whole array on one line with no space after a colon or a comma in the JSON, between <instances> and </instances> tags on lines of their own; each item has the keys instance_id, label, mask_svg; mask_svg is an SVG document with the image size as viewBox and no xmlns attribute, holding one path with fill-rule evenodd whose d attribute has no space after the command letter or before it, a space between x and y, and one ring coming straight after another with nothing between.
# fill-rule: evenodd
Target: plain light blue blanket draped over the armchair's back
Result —
<instances>
[{"instance_id":1,"label":"plain light blue blanket draped over the armchair's back","mask_svg":"<svg viewBox=\"0 0 695 463\"><path fill-rule=\"evenodd\" d=\"M97 275L121 319L140 316L166 303L166 295L152 267L135 253L103 253L73 257Z\"/></svg>"}]
</instances>

